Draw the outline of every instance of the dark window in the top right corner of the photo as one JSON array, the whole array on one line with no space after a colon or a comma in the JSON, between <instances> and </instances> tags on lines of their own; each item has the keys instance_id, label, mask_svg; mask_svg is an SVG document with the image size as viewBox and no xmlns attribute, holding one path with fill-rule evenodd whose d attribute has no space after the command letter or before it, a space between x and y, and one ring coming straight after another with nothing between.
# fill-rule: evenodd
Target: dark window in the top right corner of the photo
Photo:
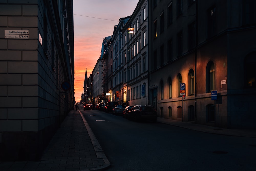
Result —
<instances>
[{"instance_id":1,"label":"dark window in the top right corner of the photo","mask_svg":"<svg viewBox=\"0 0 256 171\"><path fill-rule=\"evenodd\" d=\"M256 1L243 0L243 24L256 23Z\"/></svg>"}]
</instances>

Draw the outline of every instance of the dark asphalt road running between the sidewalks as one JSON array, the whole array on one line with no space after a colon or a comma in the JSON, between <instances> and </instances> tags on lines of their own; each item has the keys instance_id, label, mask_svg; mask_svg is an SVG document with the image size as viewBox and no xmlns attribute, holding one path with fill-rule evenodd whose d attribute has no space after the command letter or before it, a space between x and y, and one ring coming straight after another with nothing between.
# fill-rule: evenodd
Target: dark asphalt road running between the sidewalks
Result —
<instances>
[{"instance_id":1,"label":"dark asphalt road running between the sidewalks","mask_svg":"<svg viewBox=\"0 0 256 171\"><path fill-rule=\"evenodd\" d=\"M109 171L256 168L255 138L134 122L98 110L81 112L111 163Z\"/></svg>"}]
</instances>

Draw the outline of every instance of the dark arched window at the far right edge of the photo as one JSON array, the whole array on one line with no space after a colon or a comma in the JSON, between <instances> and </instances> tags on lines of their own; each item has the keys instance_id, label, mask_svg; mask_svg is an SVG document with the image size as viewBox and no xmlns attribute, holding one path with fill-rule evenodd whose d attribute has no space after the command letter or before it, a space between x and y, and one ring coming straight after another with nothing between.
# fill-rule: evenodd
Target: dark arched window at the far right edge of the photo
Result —
<instances>
[{"instance_id":1,"label":"dark arched window at the far right edge of the photo","mask_svg":"<svg viewBox=\"0 0 256 171\"><path fill-rule=\"evenodd\" d=\"M255 77L256 77L256 52L253 52L246 56L245 60L245 75L246 75L246 86L256 87Z\"/></svg>"}]
</instances>

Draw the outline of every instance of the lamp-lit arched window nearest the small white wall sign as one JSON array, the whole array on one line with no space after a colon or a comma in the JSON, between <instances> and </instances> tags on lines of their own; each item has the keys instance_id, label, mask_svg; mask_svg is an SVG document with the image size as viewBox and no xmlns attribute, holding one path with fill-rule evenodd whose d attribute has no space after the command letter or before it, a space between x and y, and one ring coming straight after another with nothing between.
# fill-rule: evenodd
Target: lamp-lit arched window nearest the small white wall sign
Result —
<instances>
[{"instance_id":1,"label":"lamp-lit arched window nearest the small white wall sign","mask_svg":"<svg viewBox=\"0 0 256 171\"><path fill-rule=\"evenodd\" d=\"M206 66L206 93L215 90L215 66L212 61Z\"/></svg>"}]
</instances>

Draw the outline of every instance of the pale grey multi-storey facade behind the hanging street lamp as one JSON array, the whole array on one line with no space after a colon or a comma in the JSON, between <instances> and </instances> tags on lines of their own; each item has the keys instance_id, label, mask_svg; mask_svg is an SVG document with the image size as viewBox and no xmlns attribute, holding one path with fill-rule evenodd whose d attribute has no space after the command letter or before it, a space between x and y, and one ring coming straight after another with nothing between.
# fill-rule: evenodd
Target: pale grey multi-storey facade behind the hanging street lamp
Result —
<instances>
[{"instance_id":1,"label":"pale grey multi-storey facade behind the hanging street lamp","mask_svg":"<svg viewBox=\"0 0 256 171\"><path fill-rule=\"evenodd\" d=\"M128 28L134 28L128 33ZM139 1L122 29L123 99L126 105L148 104L148 1Z\"/></svg>"}]
</instances>

